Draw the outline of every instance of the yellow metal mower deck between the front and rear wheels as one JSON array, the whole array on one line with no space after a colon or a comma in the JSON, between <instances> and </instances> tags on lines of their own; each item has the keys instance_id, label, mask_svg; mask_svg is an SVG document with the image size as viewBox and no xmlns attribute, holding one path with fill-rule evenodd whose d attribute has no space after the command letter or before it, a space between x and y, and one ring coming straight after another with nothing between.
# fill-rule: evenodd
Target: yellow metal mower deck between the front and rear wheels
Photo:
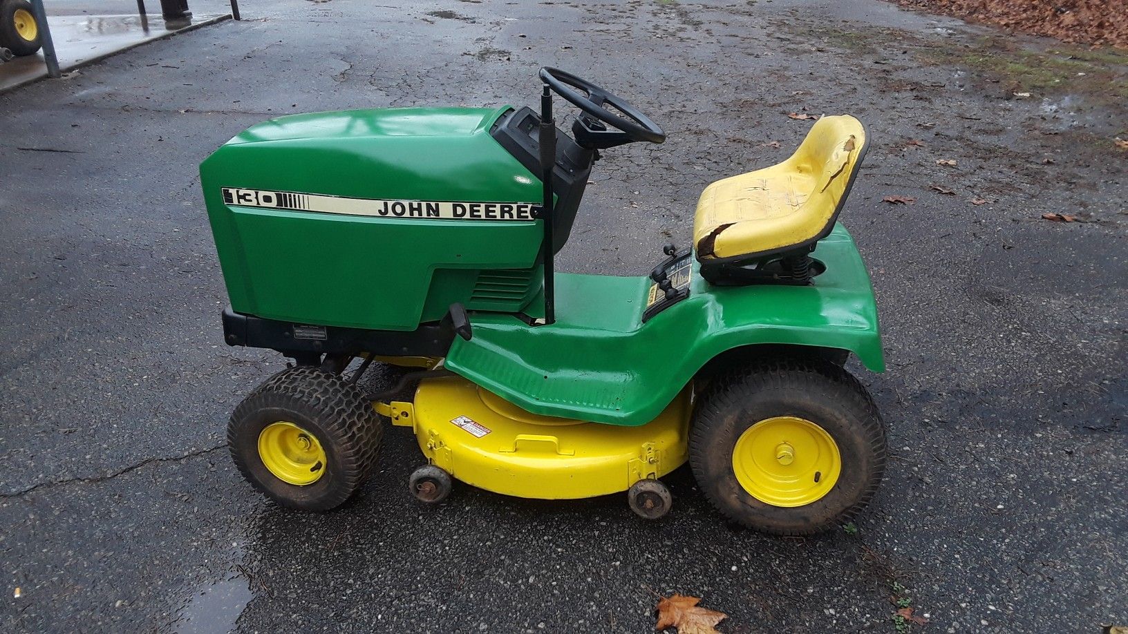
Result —
<instances>
[{"instance_id":1,"label":"yellow metal mower deck between the front and rear wheels","mask_svg":"<svg viewBox=\"0 0 1128 634\"><path fill-rule=\"evenodd\" d=\"M479 488L544 500L593 497L661 477L688 456L687 387L640 426L529 413L461 377L420 384L414 403L376 404L412 426L428 459Z\"/></svg>"}]
</instances>

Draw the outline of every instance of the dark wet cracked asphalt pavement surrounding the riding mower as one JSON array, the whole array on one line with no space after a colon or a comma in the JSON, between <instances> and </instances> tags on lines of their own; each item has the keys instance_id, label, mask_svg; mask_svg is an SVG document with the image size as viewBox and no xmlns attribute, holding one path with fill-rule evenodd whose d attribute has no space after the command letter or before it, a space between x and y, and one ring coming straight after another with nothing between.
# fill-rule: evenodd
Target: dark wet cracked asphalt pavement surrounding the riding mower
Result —
<instances>
[{"instance_id":1,"label":"dark wet cracked asphalt pavement surrounding the riding mower","mask_svg":"<svg viewBox=\"0 0 1128 634\"><path fill-rule=\"evenodd\" d=\"M895 582L924 632L1128 624L1122 54L876 0L243 11L0 95L5 632L649 632L671 592L729 633L893 632ZM649 271L707 183L797 143L788 113L866 123L841 219L890 371L851 367L893 459L856 534L725 526L687 469L656 523L619 496L421 508L398 428L336 512L240 481L227 417L283 360L221 341L199 162L281 114L532 104L545 64L670 134L605 152L569 271Z\"/></svg>"}]
</instances>

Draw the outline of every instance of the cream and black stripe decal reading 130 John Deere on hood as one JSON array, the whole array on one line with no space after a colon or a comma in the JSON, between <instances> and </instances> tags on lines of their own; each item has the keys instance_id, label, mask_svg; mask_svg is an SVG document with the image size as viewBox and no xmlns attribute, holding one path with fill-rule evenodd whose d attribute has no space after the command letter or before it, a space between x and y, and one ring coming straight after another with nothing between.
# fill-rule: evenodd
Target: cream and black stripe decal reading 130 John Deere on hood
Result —
<instances>
[{"instance_id":1,"label":"cream and black stripe decal reading 130 John Deere on hood","mask_svg":"<svg viewBox=\"0 0 1128 634\"><path fill-rule=\"evenodd\" d=\"M378 218L424 218L440 220L534 220L535 203L484 203L456 201L399 201L349 199L297 192L237 190L221 187L223 202L238 206L259 206L345 215Z\"/></svg>"}]
</instances>

